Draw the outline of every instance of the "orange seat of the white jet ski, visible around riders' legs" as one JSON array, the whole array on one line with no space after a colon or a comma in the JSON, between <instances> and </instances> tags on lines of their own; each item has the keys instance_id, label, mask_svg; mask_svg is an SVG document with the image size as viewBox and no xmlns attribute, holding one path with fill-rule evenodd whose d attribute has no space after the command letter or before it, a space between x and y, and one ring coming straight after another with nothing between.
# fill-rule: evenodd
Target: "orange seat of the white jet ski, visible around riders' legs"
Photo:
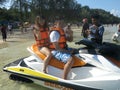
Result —
<instances>
[{"instance_id":1,"label":"orange seat of the white jet ski, visible around riders' legs","mask_svg":"<svg viewBox=\"0 0 120 90\"><path fill-rule=\"evenodd\" d=\"M42 60L44 60L45 58L45 55L42 54L37 45L36 44L33 44L31 46L31 50L39 57L41 58ZM86 63L83 61L83 60L80 60L78 57L76 56L73 56L73 60L74 60L74 64L72 67L79 67L79 66L84 66L86 65ZM52 57L52 59L50 60L49 62L49 65L51 66L54 66L54 67L57 67L57 68L60 68L60 69L63 69L64 68L64 63L63 62L60 62L59 60L57 60L55 57Z\"/></svg>"}]
</instances>

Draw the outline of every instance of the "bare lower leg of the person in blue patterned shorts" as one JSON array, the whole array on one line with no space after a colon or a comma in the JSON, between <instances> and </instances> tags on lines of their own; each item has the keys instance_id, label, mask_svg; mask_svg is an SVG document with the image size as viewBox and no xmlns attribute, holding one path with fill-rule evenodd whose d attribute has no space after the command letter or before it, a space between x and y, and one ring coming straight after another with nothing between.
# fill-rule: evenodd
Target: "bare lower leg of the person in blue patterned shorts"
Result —
<instances>
[{"instance_id":1,"label":"bare lower leg of the person in blue patterned shorts","mask_svg":"<svg viewBox=\"0 0 120 90\"><path fill-rule=\"evenodd\" d=\"M63 79L67 79L67 75L73 65L74 61L72 57L68 60L68 62L64 66L64 73L63 73Z\"/></svg>"}]
</instances>

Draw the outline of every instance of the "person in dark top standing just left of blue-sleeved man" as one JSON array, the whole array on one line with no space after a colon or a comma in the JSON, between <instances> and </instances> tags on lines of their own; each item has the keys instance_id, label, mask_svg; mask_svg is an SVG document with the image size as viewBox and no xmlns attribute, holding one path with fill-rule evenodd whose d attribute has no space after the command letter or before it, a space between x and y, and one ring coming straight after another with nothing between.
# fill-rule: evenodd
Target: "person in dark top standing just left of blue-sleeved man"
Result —
<instances>
[{"instance_id":1,"label":"person in dark top standing just left of blue-sleeved man","mask_svg":"<svg viewBox=\"0 0 120 90\"><path fill-rule=\"evenodd\" d=\"M82 35L84 38L87 38L87 37L88 37L87 32L86 32L87 30L89 30L88 19L87 19L87 18L84 18L84 19L83 19L82 32L81 32L81 35Z\"/></svg>"}]
</instances>

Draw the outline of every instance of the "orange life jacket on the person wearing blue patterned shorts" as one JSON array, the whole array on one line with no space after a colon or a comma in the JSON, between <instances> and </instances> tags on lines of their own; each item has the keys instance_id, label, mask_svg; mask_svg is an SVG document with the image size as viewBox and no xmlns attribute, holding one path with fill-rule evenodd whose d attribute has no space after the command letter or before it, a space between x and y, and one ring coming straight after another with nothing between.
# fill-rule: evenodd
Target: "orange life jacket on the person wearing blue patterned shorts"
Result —
<instances>
[{"instance_id":1,"label":"orange life jacket on the person wearing blue patterned shorts","mask_svg":"<svg viewBox=\"0 0 120 90\"><path fill-rule=\"evenodd\" d=\"M60 34L60 39L59 39L59 45L61 48L66 48L67 44L66 44L66 37L65 37L65 33L64 30L62 28L58 28L58 27L52 27L50 30L50 33L52 31L58 31ZM50 49L55 49L55 47L53 46L53 44L50 44Z\"/></svg>"}]
</instances>

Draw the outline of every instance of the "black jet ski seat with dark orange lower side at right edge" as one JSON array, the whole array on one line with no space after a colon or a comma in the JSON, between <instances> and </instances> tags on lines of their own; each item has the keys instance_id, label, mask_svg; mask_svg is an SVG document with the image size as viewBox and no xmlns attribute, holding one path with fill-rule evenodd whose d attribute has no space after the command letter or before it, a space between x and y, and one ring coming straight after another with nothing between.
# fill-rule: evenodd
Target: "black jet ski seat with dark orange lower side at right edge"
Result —
<instances>
[{"instance_id":1,"label":"black jet ski seat with dark orange lower side at right edge","mask_svg":"<svg viewBox=\"0 0 120 90\"><path fill-rule=\"evenodd\" d=\"M99 53L106 57L110 62L120 67L120 45L104 42L99 48Z\"/></svg>"}]
</instances>

